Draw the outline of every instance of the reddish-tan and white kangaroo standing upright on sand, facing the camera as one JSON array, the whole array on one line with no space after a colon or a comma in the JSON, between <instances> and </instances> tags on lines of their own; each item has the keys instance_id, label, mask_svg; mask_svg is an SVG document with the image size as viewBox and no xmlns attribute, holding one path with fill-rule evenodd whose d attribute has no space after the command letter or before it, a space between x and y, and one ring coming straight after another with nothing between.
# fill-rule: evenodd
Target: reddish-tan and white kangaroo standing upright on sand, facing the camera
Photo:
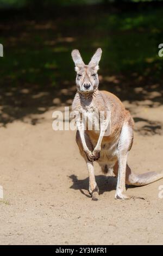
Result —
<instances>
[{"instance_id":1,"label":"reddish-tan and white kangaroo standing upright on sand, facing the camera","mask_svg":"<svg viewBox=\"0 0 163 256\"><path fill-rule=\"evenodd\" d=\"M116 199L131 198L126 194L126 184L143 186L163 178L163 172L133 174L127 164L127 156L133 144L134 120L120 99L114 94L98 90L97 71L102 50L98 48L88 65L85 65L78 50L72 51L72 59L77 72L77 93L72 102L72 111L82 113L85 118L90 114L110 111L110 117L104 118L99 130L87 129L87 124L76 114L76 142L80 154L84 157L89 172L89 192L92 200L98 200L99 189L95 180L93 161L97 161L104 174L117 176ZM106 117L106 115L105 115ZM105 135L110 123L110 132Z\"/></svg>"}]
</instances>

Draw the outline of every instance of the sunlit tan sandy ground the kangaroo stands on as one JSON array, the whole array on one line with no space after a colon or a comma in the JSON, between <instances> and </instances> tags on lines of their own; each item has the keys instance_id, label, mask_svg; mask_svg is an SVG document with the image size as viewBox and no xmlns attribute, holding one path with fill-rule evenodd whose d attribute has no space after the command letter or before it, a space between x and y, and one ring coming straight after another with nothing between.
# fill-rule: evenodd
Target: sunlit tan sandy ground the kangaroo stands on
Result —
<instances>
[{"instance_id":1,"label":"sunlit tan sandy ground the kangaroo stands on","mask_svg":"<svg viewBox=\"0 0 163 256\"><path fill-rule=\"evenodd\" d=\"M163 107L124 102L133 113L135 139L129 164L135 173L163 169ZM144 197L115 200L116 178L96 164L100 197L87 191L86 164L74 131L53 131L52 110L0 129L1 245L126 245L163 243L163 180L127 193ZM149 120L149 121L148 121Z\"/></svg>"}]
</instances>

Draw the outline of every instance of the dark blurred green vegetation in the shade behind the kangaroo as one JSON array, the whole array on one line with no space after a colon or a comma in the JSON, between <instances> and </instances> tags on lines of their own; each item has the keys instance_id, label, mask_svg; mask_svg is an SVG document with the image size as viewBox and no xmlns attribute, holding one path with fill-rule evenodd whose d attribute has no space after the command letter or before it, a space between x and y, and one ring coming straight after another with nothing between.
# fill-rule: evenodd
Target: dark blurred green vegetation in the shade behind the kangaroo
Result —
<instances>
[{"instance_id":1,"label":"dark blurred green vegetation in the shade behind the kangaroo","mask_svg":"<svg viewBox=\"0 0 163 256\"><path fill-rule=\"evenodd\" d=\"M3 2L27 3L0 0ZM158 56L158 46L163 42L162 5L134 3L127 8L127 3L121 8L119 4L107 7L109 1L103 2L104 5L33 13L31 10L26 13L25 9L0 16L0 43L4 46L4 57L0 58L3 105L12 105L12 111L27 105L34 108L26 93L24 97L20 93L17 100L23 88L48 92L48 97L38 101L39 106L52 106L54 97L59 97L60 103L68 100L70 103L75 89L66 93L62 89L74 86L73 48L80 50L85 63L97 47L102 48L100 88L116 93L122 100L134 100L137 96L145 99L144 94L135 94L135 87L150 91L153 84L158 84L157 90L162 92L163 57ZM159 96L155 100L162 102L161 99ZM20 116L20 109L13 114L9 112L8 115Z\"/></svg>"}]
</instances>

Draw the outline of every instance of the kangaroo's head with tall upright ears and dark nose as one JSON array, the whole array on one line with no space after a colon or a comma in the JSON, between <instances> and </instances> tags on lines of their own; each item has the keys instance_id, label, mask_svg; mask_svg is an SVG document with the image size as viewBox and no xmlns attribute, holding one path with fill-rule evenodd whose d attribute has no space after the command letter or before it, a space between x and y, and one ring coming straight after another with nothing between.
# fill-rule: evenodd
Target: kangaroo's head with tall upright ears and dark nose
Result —
<instances>
[{"instance_id":1,"label":"kangaroo's head with tall upright ears and dark nose","mask_svg":"<svg viewBox=\"0 0 163 256\"><path fill-rule=\"evenodd\" d=\"M77 90L81 93L92 93L98 88L98 63L101 59L102 50L98 48L88 65L85 65L78 50L73 50L71 55L76 65Z\"/></svg>"}]
</instances>

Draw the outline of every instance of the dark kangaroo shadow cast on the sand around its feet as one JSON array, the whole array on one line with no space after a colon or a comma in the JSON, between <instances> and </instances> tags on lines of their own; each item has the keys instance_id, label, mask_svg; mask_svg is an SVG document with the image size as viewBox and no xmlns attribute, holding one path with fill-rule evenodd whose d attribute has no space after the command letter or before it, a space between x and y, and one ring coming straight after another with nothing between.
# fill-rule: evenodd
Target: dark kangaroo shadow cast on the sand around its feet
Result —
<instances>
[{"instance_id":1,"label":"dark kangaroo shadow cast on the sand around its feet","mask_svg":"<svg viewBox=\"0 0 163 256\"><path fill-rule=\"evenodd\" d=\"M73 184L70 188L73 190L80 190L82 194L85 194L86 197L91 197L89 194L85 193L84 190L89 190L89 178L79 180L76 175L72 174L69 176ZM99 194L104 192L109 192L116 190L117 178L113 176L97 175L96 176L97 186L99 188Z\"/></svg>"}]
</instances>

